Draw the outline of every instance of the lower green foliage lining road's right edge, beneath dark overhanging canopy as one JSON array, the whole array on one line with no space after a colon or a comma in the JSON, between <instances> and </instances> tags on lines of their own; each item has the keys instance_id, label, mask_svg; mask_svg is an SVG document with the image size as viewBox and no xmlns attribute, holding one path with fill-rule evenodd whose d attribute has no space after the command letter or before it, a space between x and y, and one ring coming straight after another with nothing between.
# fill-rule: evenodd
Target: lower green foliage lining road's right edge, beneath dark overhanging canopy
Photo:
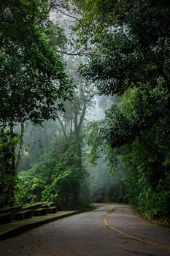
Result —
<instances>
[{"instance_id":1,"label":"lower green foliage lining road's right edge, beneath dark overhanging canopy","mask_svg":"<svg viewBox=\"0 0 170 256\"><path fill-rule=\"evenodd\" d=\"M135 113L136 90L130 92L122 97L121 103L112 105L107 110L104 121L89 124L90 162L96 163L98 158L106 155L111 175L106 186L111 193L102 197L103 200L131 203L147 218L164 219L164 222L169 223L170 152L169 140L166 140L169 127L165 127L168 116L156 121L152 127L143 129L135 139L128 140L124 145L120 144L123 127L117 127L117 122L120 121L117 118L123 114L131 121ZM124 129L127 125L126 123ZM113 129L114 134L110 132ZM163 134L164 130L166 132ZM111 140L109 136L115 143L119 142L118 147L108 142Z\"/></svg>"}]
</instances>

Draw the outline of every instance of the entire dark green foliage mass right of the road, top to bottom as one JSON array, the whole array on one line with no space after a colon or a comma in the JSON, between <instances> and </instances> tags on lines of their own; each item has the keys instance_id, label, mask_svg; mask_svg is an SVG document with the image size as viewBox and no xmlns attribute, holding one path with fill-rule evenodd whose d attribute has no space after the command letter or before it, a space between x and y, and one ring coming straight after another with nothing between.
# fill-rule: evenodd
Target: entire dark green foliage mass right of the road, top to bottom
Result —
<instances>
[{"instance_id":1,"label":"entire dark green foliage mass right of the road, top to bottom","mask_svg":"<svg viewBox=\"0 0 170 256\"><path fill-rule=\"evenodd\" d=\"M100 94L122 97L92 125L92 159L104 149L111 168L121 162L128 201L169 221L169 1L75 2L80 42L93 42L80 72Z\"/></svg>"}]
</instances>

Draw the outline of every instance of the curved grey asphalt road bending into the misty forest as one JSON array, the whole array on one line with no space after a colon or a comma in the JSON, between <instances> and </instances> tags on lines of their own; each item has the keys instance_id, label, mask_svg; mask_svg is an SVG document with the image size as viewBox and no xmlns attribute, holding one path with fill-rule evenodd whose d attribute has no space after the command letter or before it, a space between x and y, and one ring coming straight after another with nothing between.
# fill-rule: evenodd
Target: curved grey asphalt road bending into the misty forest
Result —
<instances>
[{"instance_id":1,"label":"curved grey asphalt road bending into the misty forest","mask_svg":"<svg viewBox=\"0 0 170 256\"><path fill-rule=\"evenodd\" d=\"M144 222L130 206L100 204L0 242L0 256L18 255L168 256L170 230Z\"/></svg>"}]
</instances>

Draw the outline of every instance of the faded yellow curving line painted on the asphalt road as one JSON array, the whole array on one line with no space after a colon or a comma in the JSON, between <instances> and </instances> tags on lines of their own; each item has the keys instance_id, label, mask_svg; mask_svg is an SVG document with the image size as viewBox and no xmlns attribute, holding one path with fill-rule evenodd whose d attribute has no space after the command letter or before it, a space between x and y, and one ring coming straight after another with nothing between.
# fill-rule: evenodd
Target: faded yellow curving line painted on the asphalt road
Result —
<instances>
[{"instance_id":1,"label":"faded yellow curving line painted on the asphalt road","mask_svg":"<svg viewBox=\"0 0 170 256\"><path fill-rule=\"evenodd\" d=\"M129 235L128 233L125 233L119 229L117 229L116 227L113 227L112 225L109 225L109 223L107 222L108 218L109 218L109 214L112 214L113 211L115 211L114 209L111 210L111 211L108 211L108 213L104 216L104 224L109 227L111 230L115 230L117 233L120 233L121 235L123 236L127 236L128 238L131 238L131 239L134 239L136 241L140 241L140 242L143 242L145 244L150 244L152 246L157 246L157 247L161 247L162 249L166 249L166 250L170 250L170 247L169 246L164 246L164 245L161 245L161 244L157 244L157 243L154 243L154 242L151 242L151 241L147 241L145 239L142 239L142 238L139 238L139 237L136 237L136 236L131 236Z\"/></svg>"}]
</instances>

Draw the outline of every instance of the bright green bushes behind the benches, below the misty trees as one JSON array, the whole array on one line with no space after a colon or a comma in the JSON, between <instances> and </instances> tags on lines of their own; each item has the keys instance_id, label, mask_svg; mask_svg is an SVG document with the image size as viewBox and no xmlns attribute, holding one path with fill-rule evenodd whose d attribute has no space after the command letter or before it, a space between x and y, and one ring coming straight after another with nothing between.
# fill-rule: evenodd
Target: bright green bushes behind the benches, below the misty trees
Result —
<instances>
[{"instance_id":1,"label":"bright green bushes behind the benches, below the misty trees","mask_svg":"<svg viewBox=\"0 0 170 256\"><path fill-rule=\"evenodd\" d=\"M90 203L88 171L78 166L76 140L55 140L53 151L18 176L16 203L54 201L60 209L85 208Z\"/></svg>"}]
</instances>

